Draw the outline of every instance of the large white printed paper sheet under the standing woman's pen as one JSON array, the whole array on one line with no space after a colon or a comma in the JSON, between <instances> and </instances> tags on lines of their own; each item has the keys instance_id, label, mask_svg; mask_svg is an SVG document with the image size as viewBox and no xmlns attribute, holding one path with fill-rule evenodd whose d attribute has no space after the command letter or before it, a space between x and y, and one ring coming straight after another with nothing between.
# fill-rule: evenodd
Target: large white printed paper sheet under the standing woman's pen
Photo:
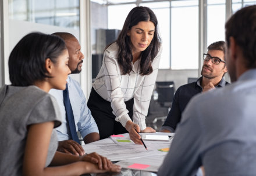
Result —
<instances>
[{"instance_id":1,"label":"large white printed paper sheet under the standing woman's pen","mask_svg":"<svg viewBox=\"0 0 256 176\"><path fill-rule=\"evenodd\" d=\"M99 155L107 157L112 162L118 162L121 160L137 159L139 157L148 157L152 155L166 155L166 148L170 147L172 141L144 141L148 149L147 151L143 145L128 142L129 140L129 133L112 135L110 138L83 145L83 149L86 153L97 152Z\"/></svg>"}]
</instances>

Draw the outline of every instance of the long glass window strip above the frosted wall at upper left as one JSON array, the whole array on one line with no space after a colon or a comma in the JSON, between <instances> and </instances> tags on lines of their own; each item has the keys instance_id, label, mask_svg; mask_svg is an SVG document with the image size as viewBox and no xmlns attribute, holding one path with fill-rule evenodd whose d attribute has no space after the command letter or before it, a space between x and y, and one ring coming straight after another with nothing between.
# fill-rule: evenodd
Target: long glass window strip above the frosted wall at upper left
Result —
<instances>
[{"instance_id":1,"label":"long glass window strip above the frosted wall at upper left","mask_svg":"<svg viewBox=\"0 0 256 176\"><path fill-rule=\"evenodd\" d=\"M9 18L79 29L79 0L9 1Z\"/></svg>"}]
</instances>

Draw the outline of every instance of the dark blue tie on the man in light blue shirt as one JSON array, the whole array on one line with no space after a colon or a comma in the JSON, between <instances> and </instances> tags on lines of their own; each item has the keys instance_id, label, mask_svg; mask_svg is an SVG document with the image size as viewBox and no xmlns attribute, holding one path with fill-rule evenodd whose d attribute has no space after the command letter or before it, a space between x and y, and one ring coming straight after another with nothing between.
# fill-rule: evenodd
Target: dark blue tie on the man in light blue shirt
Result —
<instances>
[{"instance_id":1,"label":"dark blue tie on the man in light blue shirt","mask_svg":"<svg viewBox=\"0 0 256 176\"><path fill-rule=\"evenodd\" d=\"M76 125L74 124L74 115L73 115L72 107L69 100L69 89L67 88L67 84L66 84L66 89L63 90L63 99L64 99L64 105L66 109L66 120L67 120L67 123L69 124L72 140L80 144L80 141L76 132Z\"/></svg>"}]
</instances>

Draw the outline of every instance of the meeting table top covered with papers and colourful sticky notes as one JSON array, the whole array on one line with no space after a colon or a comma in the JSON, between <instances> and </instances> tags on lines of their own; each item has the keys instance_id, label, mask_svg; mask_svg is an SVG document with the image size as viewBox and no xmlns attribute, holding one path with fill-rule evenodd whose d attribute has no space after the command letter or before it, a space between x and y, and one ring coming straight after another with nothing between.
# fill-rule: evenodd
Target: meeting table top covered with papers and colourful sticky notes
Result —
<instances>
[{"instance_id":1,"label":"meeting table top covered with papers and colourful sticky notes","mask_svg":"<svg viewBox=\"0 0 256 176\"><path fill-rule=\"evenodd\" d=\"M174 133L140 133L144 145L134 144L129 134L112 135L104 140L83 145L86 153L97 152L107 157L113 163L122 166L120 173L90 174L90 175L126 175L155 176L163 159L169 151Z\"/></svg>"}]
</instances>

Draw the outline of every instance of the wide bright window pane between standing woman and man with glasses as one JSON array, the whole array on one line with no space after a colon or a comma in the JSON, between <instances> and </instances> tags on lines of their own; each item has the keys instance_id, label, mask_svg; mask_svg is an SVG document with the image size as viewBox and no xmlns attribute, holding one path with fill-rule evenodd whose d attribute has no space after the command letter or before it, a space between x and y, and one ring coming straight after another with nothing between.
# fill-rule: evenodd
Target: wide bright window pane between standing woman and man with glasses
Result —
<instances>
[{"instance_id":1,"label":"wide bright window pane between standing woman and man with glasses","mask_svg":"<svg viewBox=\"0 0 256 176\"><path fill-rule=\"evenodd\" d=\"M171 12L170 68L198 69L198 1L172 1Z\"/></svg>"}]
</instances>

